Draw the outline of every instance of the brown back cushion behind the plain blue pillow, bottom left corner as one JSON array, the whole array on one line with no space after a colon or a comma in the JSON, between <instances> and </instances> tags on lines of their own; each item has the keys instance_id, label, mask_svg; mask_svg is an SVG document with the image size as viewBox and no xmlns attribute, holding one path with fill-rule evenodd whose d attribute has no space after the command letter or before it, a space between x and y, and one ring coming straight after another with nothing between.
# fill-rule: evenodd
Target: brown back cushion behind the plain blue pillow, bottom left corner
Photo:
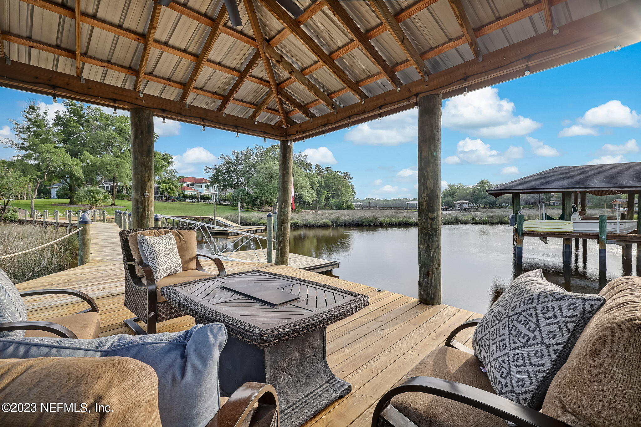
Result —
<instances>
[{"instance_id":1,"label":"brown back cushion behind the plain blue pillow, bottom left corner","mask_svg":"<svg viewBox=\"0 0 641 427\"><path fill-rule=\"evenodd\" d=\"M0 411L3 427L160 427L158 377L129 357L0 360L0 402L36 403L35 412ZM45 412L44 403L86 403L91 412ZM96 412L96 403L111 412ZM54 407L56 408L56 407Z\"/></svg>"}]
</instances>

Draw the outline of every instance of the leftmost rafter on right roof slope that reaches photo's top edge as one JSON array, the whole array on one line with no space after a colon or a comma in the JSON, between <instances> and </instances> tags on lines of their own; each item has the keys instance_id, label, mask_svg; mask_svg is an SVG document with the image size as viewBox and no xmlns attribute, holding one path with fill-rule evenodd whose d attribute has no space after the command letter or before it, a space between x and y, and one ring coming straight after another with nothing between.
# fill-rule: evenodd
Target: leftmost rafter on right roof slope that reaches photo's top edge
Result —
<instances>
[{"instance_id":1,"label":"leftmost rafter on right roof slope that reaches photo's top edge","mask_svg":"<svg viewBox=\"0 0 641 427\"><path fill-rule=\"evenodd\" d=\"M278 3L276 3L276 0L260 0L261 3L265 5L267 10L276 17L276 19L279 20L285 28L287 28L290 33L296 39L301 42L304 47L306 47L312 54L319 59L320 62L323 63L323 65L329 69L329 71L334 74L334 76L337 77L338 81L340 81L343 85L345 85L346 88L349 88L349 91L354 93L358 99L365 99L367 96L361 88L356 85L356 83L349 77L347 76L347 73L343 71L342 68L338 67L338 64L334 62L329 57L329 54L325 52L322 47L317 44L313 38L308 35L305 30L296 23L296 21L288 15L288 13L283 9Z\"/></svg>"}]
</instances>

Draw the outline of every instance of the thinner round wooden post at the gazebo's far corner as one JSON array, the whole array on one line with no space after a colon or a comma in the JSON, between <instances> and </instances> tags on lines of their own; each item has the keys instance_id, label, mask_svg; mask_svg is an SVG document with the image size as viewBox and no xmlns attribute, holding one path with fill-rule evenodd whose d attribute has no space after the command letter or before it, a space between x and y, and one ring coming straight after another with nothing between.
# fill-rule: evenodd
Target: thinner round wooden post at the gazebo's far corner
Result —
<instances>
[{"instance_id":1,"label":"thinner round wooden post at the gazebo's far corner","mask_svg":"<svg viewBox=\"0 0 641 427\"><path fill-rule=\"evenodd\" d=\"M281 140L278 154L278 254L276 264L289 264L289 223L292 213L292 163L294 143Z\"/></svg>"}]
</instances>

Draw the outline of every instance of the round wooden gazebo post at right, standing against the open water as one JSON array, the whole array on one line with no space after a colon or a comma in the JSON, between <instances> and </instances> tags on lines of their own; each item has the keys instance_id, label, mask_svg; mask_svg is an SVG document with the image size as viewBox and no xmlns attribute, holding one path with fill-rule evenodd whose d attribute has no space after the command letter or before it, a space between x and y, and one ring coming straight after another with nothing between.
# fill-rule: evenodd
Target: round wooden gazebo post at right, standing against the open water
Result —
<instances>
[{"instance_id":1,"label":"round wooden gazebo post at right, standing against the open water","mask_svg":"<svg viewBox=\"0 0 641 427\"><path fill-rule=\"evenodd\" d=\"M419 98L419 302L441 303L440 152L442 95Z\"/></svg>"}]
</instances>

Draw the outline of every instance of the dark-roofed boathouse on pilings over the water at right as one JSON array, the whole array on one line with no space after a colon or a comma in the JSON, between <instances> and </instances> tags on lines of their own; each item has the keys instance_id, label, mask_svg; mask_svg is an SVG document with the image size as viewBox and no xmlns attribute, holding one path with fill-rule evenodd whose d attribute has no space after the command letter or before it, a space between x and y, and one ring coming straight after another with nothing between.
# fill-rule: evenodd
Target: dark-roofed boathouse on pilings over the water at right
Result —
<instances>
[{"instance_id":1,"label":"dark-roofed boathouse on pilings over the water at right","mask_svg":"<svg viewBox=\"0 0 641 427\"><path fill-rule=\"evenodd\" d=\"M512 213L517 218L517 224L514 228L514 257L517 264L522 264L522 245L523 238L537 237L540 239L562 238L563 239L563 266L568 269L571 262L570 252L572 239L574 239L575 248L579 246L579 239L583 240L583 248L587 246L587 239L599 239L599 276L605 277L605 245L613 243L622 246L622 257L624 266L629 265L631 270L633 245L637 245L637 272L641 271L641 215L636 218L636 229L628 229L624 232L610 232L608 223L619 222L618 220L627 221L630 225L635 220L635 197L639 195L641 200L641 162L632 163L612 163L606 165L581 165L581 166L557 166L534 173L514 181L506 182L492 189L487 193L499 197L503 195L512 195ZM549 231L549 230L524 230L523 216L519 215L521 211L520 195L522 194L548 194L558 193L562 195L562 219L570 221L572 218L572 205L578 209L578 216L581 221L597 220L600 228L597 227L592 232L580 232L577 229L567 231ZM588 216L587 213L587 195L608 196L626 194L626 202L631 206L626 213L620 214L620 218L608 218L606 215ZM576 218L576 214L574 214ZM520 221L519 221L520 219ZM615 231L618 230L615 229ZM622 231L622 230L620 230ZM625 270L625 269L624 269Z\"/></svg>"}]
</instances>

